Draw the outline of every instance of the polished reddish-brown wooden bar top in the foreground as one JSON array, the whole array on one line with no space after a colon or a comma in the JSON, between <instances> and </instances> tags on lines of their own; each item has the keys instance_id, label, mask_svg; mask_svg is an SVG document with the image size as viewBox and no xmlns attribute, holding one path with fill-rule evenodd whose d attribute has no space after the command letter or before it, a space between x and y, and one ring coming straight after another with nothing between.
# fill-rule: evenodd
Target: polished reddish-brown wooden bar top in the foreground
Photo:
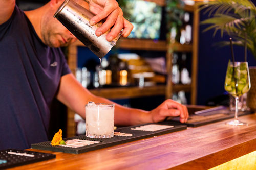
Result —
<instances>
[{"instance_id":1,"label":"polished reddish-brown wooden bar top in the foreground","mask_svg":"<svg viewBox=\"0 0 256 170\"><path fill-rule=\"evenodd\" d=\"M256 150L256 113L241 116L248 126L227 120L14 169L209 169Z\"/></svg>"}]
</instances>

